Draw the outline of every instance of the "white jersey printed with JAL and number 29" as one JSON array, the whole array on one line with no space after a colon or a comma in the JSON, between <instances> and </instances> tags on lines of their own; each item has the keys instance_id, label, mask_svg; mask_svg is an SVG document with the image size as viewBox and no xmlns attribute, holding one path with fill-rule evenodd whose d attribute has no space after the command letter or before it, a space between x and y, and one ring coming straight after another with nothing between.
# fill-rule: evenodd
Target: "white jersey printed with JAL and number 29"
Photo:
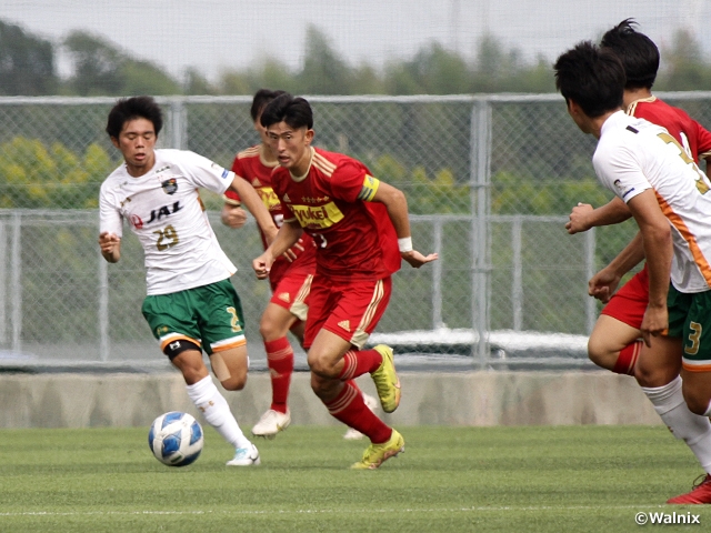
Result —
<instances>
[{"instance_id":1,"label":"white jersey printed with JAL and number 29","mask_svg":"<svg viewBox=\"0 0 711 533\"><path fill-rule=\"evenodd\" d=\"M222 194L234 174L193 152L156 150L156 165L133 178L126 164L101 185L100 231L121 237L126 219L143 245L148 294L169 294L232 275L198 188Z\"/></svg>"}]
</instances>

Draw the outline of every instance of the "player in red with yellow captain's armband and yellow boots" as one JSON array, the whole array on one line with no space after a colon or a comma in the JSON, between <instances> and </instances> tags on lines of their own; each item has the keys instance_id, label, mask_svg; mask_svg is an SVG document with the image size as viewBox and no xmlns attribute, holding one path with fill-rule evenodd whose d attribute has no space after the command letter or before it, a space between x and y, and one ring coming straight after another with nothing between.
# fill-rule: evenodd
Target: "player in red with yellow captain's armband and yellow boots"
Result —
<instances>
[{"instance_id":1,"label":"player in red with yellow captain's armband and yellow boots","mask_svg":"<svg viewBox=\"0 0 711 533\"><path fill-rule=\"evenodd\" d=\"M259 279L307 233L317 245L303 345L311 388L332 416L367 435L371 445L353 469L377 469L404 450L402 435L363 402L353 379L373 378L383 410L400 403L392 350L362 350L385 311L391 274L404 259L414 268L434 261L412 249L404 194L372 177L361 162L311 147L313 113L303 98L282 94L261 122L280 168L272 187L284 210L276 240L252 265Z\"/></svg>"}]
</instances>

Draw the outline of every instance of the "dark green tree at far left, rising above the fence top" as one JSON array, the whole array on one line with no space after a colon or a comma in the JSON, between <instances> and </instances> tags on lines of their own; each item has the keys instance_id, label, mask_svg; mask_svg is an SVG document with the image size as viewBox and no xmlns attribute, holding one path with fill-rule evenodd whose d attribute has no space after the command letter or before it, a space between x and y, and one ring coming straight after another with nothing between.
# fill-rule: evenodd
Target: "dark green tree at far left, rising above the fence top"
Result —
<instances>
[{"instance_id":1,"label":"dark green tree at far left, rising above the fence top","mask_svg":"<svg viewBox=\"0 0 711 533\"><path fill-rule=\"evenodd\" d=\"M0 94L52 94L57 87L52 43L0 20Z\"/></svg>"}]
</instances>

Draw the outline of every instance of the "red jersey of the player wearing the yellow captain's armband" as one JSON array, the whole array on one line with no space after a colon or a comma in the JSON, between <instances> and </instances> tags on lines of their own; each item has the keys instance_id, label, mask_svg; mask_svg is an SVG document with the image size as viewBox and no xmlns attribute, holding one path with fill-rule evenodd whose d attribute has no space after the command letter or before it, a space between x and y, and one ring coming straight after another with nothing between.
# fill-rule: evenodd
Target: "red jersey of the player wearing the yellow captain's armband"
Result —
<instances>
[{"instance_id":1,"label":"red jersey of the player wearing the yellow captain's armband","mask_svg":"<svg viewBox=\"0 0 711 533\"><path fill-rule=\"evenodd\" d=\"M398 237L380 182L348 155L311 148L303 178L278 168L272 184L286 221L298 221L317 247L317 273L334 280L382 279L400 269Z\"/></svg>"}]
</instances>

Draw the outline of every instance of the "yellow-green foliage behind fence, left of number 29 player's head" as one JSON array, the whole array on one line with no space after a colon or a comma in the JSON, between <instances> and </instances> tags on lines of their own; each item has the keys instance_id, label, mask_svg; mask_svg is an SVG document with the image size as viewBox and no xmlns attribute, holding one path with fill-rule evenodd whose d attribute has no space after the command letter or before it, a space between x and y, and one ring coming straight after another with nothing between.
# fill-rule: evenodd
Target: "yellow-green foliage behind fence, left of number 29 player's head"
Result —
<instances>
[{"instance_id":1,"label":"yellow-green foliage behind fence, left of number 29 player's head","mask_svg":"<svg viewBox=\"0 0 711 533\"><path fill-rule=\"evenodd\" d=\"M16 137L0 144L0 208L91 209L113 169L107 151L90 144L78 154L59 142Z\"/></svg>"}]
</instances>

